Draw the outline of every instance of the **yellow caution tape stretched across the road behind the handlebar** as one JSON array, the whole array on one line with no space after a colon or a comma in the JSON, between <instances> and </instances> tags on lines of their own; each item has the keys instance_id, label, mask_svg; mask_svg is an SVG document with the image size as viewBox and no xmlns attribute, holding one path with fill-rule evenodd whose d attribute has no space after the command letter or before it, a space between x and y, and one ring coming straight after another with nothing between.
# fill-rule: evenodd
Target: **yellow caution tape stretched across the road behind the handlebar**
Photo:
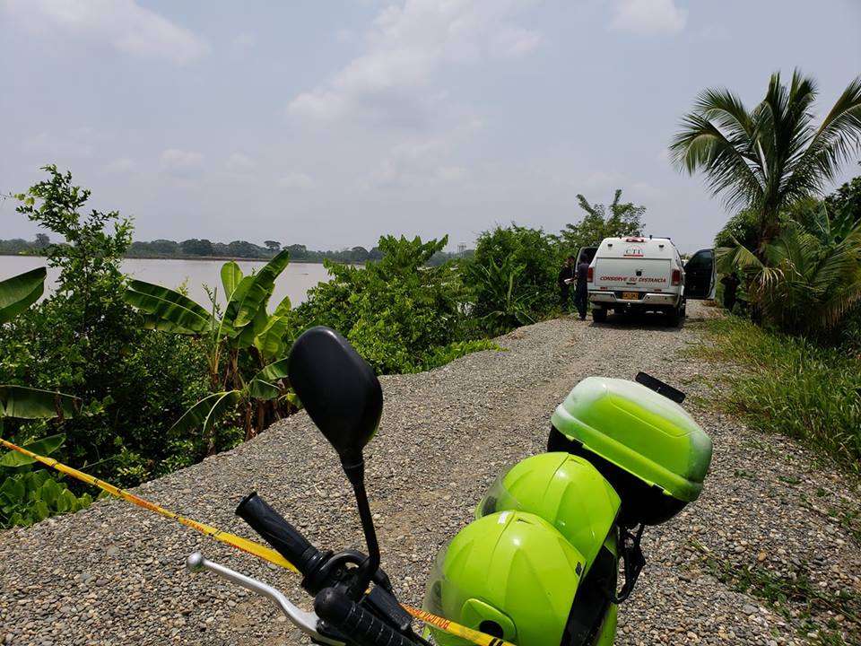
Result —
<instances>
[{"instance_id":1,"label":"yellow caution tape stretched across the road behind the handlebar","mask_svg":"<svg viewBox=\"0 0 861 646\"><path fill-rule=\"evenodd\" d=\"M166 510L164 509L164 507L161 507L154 502L145 500L140 496L135 495L134 493L127 492L125 489L120 489L117 486L111 485L110 483L106 483L104 480L100 480L99 478L90 476L89 474L85 474L83 473L83 471L78 471L77 469L74 469L72 467L66 467L65 464L63 464L62 462L57 462L57 460L54 458L45 458L44 456L40 456L39 454L33 453L30 450L22 449L22 447L13 444L11 441L7 441L3 438L0 438L0 444L2 444L6 449L18 451L19 453L22 453L28 458L32 458L37 462L41 462L43 465L56 469L60 473L64 473L66 476L72 476L75 480L80 480L81 482L87 483L88 485L97 486L102 491L108 492L115 498L131 502L138 507L143 507L143 509L145 510L154 511L155 513L165 518L176 520L178 523L185 525L186 527L196 529L201 534L205 534L208 537L213 537L215 540L221 541L222 543L231 547L236 547L237 549L247 554L253 554L254 556L257 556L257 558L263 559L264 561L268 561L269 563L280 565L281 567L286 568L291 572L298 572L295 565L290 563L290 561L285 559L281 554L278 554L277 552L275 552L274 549L270 547L261 545L256 541L248 540L248 538L239 537L235 534L230 534L229 532L223 532L221 529L213 528L211 525L206 525L192 519L187 519L184 516L180 516L174 511ZM500 640L499 637L493 637L492 635L486 633L479 633L478 631L474 631L472 628L467 628L464 625L448 621L448 619L441 616L432 615L425 610L420 610L419 608L407 606L406 604L401 604L401 606L410 615L413 615L413 617L415 617L422 623L432 625L434 628L438 628L441 631L453 634L456 637L461 637L462 639L465 639L469 642L473 642L474 644L476 644L476 646L514 646L514 644L512 643L503 642L502 640Z\"/></svg>"}]
</instances>

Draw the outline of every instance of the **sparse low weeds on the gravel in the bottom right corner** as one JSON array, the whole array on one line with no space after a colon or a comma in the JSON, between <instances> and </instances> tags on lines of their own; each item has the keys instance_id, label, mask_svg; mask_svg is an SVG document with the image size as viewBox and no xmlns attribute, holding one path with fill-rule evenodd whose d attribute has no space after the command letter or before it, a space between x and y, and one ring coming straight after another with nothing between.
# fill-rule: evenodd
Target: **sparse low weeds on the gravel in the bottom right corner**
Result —
<instances>
[{"instance_id":1,"label":"sparse low weeds on the gravel in the bottom right corner","mask_svg":"<svg viewBox=\"0 0 861 646\"><path fill-rule=\"evenodd\" d=\"M760 563L734 563L711 552L696 540L691 546L702 555L709 572L730 589L760 599L796 627L809 643L817 646L844 646L843 631L857 635L861 627L861 597L854 591L833 592L810 581L807 569L796 566L792 572L778 574ZM841 615L838 624L826 613ZM854 639L854 637L852 637Z\"/></svg>"}]
</instances>

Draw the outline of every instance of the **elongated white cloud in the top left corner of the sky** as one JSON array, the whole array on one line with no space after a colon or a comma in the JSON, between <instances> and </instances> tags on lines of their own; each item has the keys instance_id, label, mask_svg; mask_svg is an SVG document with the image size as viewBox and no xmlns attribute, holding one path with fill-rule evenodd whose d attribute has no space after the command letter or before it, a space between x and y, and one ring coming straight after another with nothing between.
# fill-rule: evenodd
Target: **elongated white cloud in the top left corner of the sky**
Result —
<instances>
[{"instance_id":1,"label":"elongated white cloud in the top left corner of the sky","mask_svg":"<svg viewBox=\"0 0 861 646\"><path fill-rule=\"evenodd\" d=\"M5 13L30 31L109 45L126 54L186 64L209 46L135 0L5 0Z\"/></svg>"}]
</instances>

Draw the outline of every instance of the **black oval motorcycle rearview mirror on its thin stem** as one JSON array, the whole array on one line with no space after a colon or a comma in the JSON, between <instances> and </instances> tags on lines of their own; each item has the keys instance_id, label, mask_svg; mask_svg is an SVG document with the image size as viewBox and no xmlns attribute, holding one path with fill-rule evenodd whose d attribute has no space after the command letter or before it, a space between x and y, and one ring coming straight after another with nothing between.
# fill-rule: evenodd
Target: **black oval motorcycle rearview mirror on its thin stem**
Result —
<instances>
[{"instance_id":1,"label":"black oval motorcycle rearview mirror on its thin stem","mask_svg":"<svg viewBox=\"0 0 861 646\"><path fill-rule=\"evenodd\" d=\"M383 391L368 362L330 327L311 327L296 339L287 360L287 376L302 406L338 452L344 474L356 495L368 558L361 563L350 596L358 601L379 569L379 545L365 491L362 450L377 432Z\"/></svg>"}]
</instances>

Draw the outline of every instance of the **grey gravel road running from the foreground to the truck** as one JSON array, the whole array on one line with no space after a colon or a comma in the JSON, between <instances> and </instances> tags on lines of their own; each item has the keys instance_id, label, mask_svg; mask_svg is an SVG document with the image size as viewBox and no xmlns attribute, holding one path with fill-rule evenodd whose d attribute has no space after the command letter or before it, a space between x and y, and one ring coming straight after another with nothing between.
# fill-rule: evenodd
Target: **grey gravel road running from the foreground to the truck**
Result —
<instances>
[{"instance_id":1,"label":"grey gravel road running from the foreground to the truck","mask_svg":"<svg viewBox=\"0 0 861 646\"><path fill-rule=\"evenodd\" d=\"M405 601L421 604L439 547L471 519L500 470L543 449L553 407L578 380L632 379L645 370L689 393L687 406L712 436L715 458L700 501L648 530L648 566L622 607L616 643L840 643L817 641L801 629L801 616L787 619L763 599L734 591L706 563L711 554L756 572L804 571L818 593L861 594L857 538L848 520L830 515L857 510L857 486L804 448L708 406L716 368L684 351L701 342L709 310L688 310L682 329L612 318L605 325L547 321L501 337L505 352L381 380L386 406L366 459L368 485L383 564ZM139 493L251 537L232 510L255 489L317 546L361 546L352 494L306 415ZM0 534L0 644L300 643L265 601L185 572L186 555L197 549L309 607L287 572L125 502L102 501ZM793 608L800 615L801 605ZM859 643L851 616L831 610L814 620Z\"/></svg>"}]
</instances>

